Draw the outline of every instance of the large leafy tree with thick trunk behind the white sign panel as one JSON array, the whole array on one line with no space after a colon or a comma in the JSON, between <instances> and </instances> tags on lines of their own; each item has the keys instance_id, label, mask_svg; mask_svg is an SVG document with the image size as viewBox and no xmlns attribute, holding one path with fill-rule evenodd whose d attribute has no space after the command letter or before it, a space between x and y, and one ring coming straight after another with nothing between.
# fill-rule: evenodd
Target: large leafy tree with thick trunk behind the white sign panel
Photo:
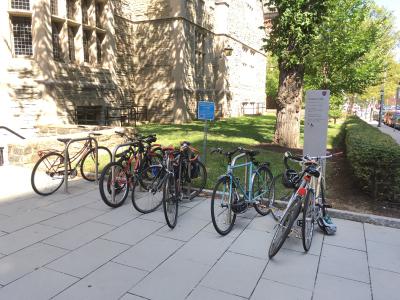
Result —
<instances>
[{"instance_id":1,"label":"large leafy tree with thick trunk behind the white sign panel","mask_svg":"<svg viewBox=\"0 0 400 300\"><path fill-rule=\"evenodd\" d=\"M295 148L300 136L305 57L312 48L318 25L325 19L327 5L326 1L315 0L268 0L266 6L278 12L264 47L277 57L279 66L274 140Z\"/></svg>"}]
</instances>

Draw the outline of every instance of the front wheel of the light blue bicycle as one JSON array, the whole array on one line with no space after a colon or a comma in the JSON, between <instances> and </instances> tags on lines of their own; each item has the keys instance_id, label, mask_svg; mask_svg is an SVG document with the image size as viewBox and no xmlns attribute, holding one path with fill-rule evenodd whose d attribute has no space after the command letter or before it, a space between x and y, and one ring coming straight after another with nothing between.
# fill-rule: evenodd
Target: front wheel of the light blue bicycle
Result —
<instances>
[{"instance_id":1,"label":"front wheel of the light blue bicycle","mask_svg":"<svg viewBox=\"0 0 400 300\"><path fill-rule=\"evenodd\" d=\"M236 188L232 187L230 178L228 176L220 178L211 197L211 219L220 235L227 235L232 230L236 220L232 204L238 202L238 199Z\"/></svg>"}]
</instances>

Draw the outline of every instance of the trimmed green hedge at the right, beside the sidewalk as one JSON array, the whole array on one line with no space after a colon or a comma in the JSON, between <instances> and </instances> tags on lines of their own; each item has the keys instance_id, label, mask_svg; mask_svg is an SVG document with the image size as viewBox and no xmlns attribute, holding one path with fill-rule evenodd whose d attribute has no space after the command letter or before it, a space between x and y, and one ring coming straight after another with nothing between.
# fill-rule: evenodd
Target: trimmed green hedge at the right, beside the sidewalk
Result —
<instances>
[{"instance_id":1,"label":"trimmed green hedge at the right, beside the sidewalk","mask_svg":"<svg viewBox=\"0 0 400 300\"><path fill-rule=\"evenodd\" d=\"M355 116L342 128L346 156L361 188L376 200L400 203L400 146Z\"/></svg>"}]
</instances>

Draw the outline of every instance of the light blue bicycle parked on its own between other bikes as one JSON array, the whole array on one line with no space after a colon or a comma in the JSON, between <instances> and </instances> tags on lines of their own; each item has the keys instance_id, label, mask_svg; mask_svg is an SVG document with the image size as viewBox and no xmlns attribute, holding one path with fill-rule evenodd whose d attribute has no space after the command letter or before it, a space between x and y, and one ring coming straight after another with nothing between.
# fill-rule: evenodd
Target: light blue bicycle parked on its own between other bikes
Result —
<instances>
[{"instance_id":1,"label":"light blue bicycle parked on its own between other bikes","mask_svg":"<svg viewBox=\"0 0 400 300\"><path fill-rule=\"evenodd\" d=\"M240 154L233 157L238 152ZM228 160L227 172L218 179L211 197L211 219L215 230L221 235L228 234L233 228L236 215L244 213L250 206L254 206L260 215L267 215L270 212L269 203L274 198L269 163L257 162L255 156L258 151L241 147L230 152L217 148L211 153L223 154ZM246 157L246 161L236 165L236 161L243 157ZM244 184L234 174L235 169L243 167Z\"/></svg>"}]
</instances>

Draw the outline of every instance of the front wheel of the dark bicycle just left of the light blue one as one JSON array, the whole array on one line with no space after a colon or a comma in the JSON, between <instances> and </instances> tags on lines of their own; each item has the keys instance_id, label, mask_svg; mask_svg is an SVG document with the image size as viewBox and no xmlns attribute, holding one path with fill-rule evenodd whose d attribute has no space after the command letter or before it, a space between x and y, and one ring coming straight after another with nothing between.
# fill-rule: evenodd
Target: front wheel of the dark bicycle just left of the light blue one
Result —
<instances>
[{"instance_id":1,"label":"front wheel of the dark bicycle just left of the light blue one","mask_svg":"<svg viewBox=\"0 0 400 300\"><path fill-rule=\"evenodd\" d=\"M178 191L175 176L168 175L163 189L164 216L170 228L176 226L178 220Z\"/></svg>"}]
</instances>

